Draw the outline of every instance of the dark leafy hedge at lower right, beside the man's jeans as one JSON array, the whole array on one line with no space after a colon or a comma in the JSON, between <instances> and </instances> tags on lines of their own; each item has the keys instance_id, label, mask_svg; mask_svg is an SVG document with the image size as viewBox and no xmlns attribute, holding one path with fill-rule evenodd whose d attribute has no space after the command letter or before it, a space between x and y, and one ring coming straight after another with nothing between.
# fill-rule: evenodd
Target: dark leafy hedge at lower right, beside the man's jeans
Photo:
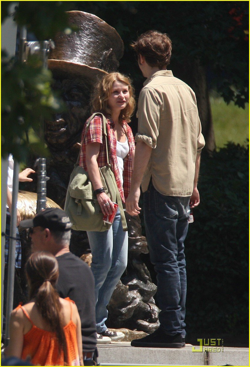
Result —
<instances>
[{"instance_id":1,"label":"dark leafy hedge at lower right, beside the man's jeans","mask_svg":"<svg viewBox=\"0 0 250 367\"><path fill-rule=\"evenodd\" d=\"M187 332L246 334L249 149L229 143L202 156L201 204L185 241Z\"/></svg>"}]
</instances>

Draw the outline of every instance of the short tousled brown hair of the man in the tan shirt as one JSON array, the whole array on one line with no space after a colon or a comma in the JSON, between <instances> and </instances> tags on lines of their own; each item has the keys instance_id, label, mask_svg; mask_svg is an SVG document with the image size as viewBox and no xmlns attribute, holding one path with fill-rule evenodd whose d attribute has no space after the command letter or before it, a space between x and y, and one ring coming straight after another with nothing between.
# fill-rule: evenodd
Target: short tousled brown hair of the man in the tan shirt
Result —
<instances>
[{"instance_id":1,"label":"short tousled brown hair of the man in the tan shirt","mask_svg":"<svg viewBox=\"0 0 250 367\"><path fill-rule=\"evenodd\" d=\"M172 42L167 34L149 30L131 44L137 55L145 57L151 67L164 68L170 62Z\"/></svg>"}]
</instances>

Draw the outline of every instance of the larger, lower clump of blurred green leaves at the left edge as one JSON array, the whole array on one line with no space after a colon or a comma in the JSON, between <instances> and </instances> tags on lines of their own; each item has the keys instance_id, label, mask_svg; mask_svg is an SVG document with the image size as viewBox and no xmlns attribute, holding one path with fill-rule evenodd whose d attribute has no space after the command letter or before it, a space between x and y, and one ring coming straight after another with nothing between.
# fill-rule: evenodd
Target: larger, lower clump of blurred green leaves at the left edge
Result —
<instances>
[{"instance_id":1,"label":"larger, lower clump of blurred green leaves at the left edge","mask_svg":"<svg viewBox=\"0 0 250 367\"><path fill-rule=\"evenodd\" d=\"M41 119L51 119L63 109L60 98L51 89L51 72L42 67L35 55L21 64L2 54L1 70L1 155L12 153L18 161L25 161L30 151L47 154L43 138L38 136ZM31 143L32 131L36 138Z\"/></svg>"}]
</instances>

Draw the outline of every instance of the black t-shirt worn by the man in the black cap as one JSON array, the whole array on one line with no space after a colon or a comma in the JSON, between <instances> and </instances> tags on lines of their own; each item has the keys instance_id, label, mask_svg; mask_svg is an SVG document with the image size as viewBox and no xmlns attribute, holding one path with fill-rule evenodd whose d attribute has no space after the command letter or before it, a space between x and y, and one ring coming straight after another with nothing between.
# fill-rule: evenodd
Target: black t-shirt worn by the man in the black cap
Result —
<instances>
[{"instance_id":1,"label":"black t-shirt worn by the man in the black cap","mask_svg":"<svg viewBox=\"0 0 250 367\"><path fill-rule=\"evenodd\" d=\"M95 280L89 266L72 252L56 257L59 278L56 289L62 298L76 303L82 326L82 350L96 349Z\"/></svg>"}]
</instances>

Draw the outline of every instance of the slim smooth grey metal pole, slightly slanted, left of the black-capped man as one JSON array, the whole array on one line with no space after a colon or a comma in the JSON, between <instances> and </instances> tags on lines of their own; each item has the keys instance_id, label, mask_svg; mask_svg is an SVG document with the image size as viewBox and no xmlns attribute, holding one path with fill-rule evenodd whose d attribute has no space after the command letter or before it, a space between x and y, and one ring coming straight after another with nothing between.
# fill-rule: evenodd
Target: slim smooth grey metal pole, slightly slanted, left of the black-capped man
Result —
<instances>
[{"instance_id":1,"label":"slim smooth grey metal pole, slightly slanted, left of the black-capped man","mask_svg":"<svg viewBox=\"0 0 250 367\"><path fill-rule=\"evenodd\" d=\"M19 163L14 160L14 174L13 174L13 191L12 191L12 210L10 219L10 244L8 250L8 281L7 281L7 296L6 296L6 326L5 326L5 342L4 347L10 341L10 314L13 310L14 298L14 279L15 279L15 250L16 250L16 205L19 187Z\"/></svg>"}]
</instances>

